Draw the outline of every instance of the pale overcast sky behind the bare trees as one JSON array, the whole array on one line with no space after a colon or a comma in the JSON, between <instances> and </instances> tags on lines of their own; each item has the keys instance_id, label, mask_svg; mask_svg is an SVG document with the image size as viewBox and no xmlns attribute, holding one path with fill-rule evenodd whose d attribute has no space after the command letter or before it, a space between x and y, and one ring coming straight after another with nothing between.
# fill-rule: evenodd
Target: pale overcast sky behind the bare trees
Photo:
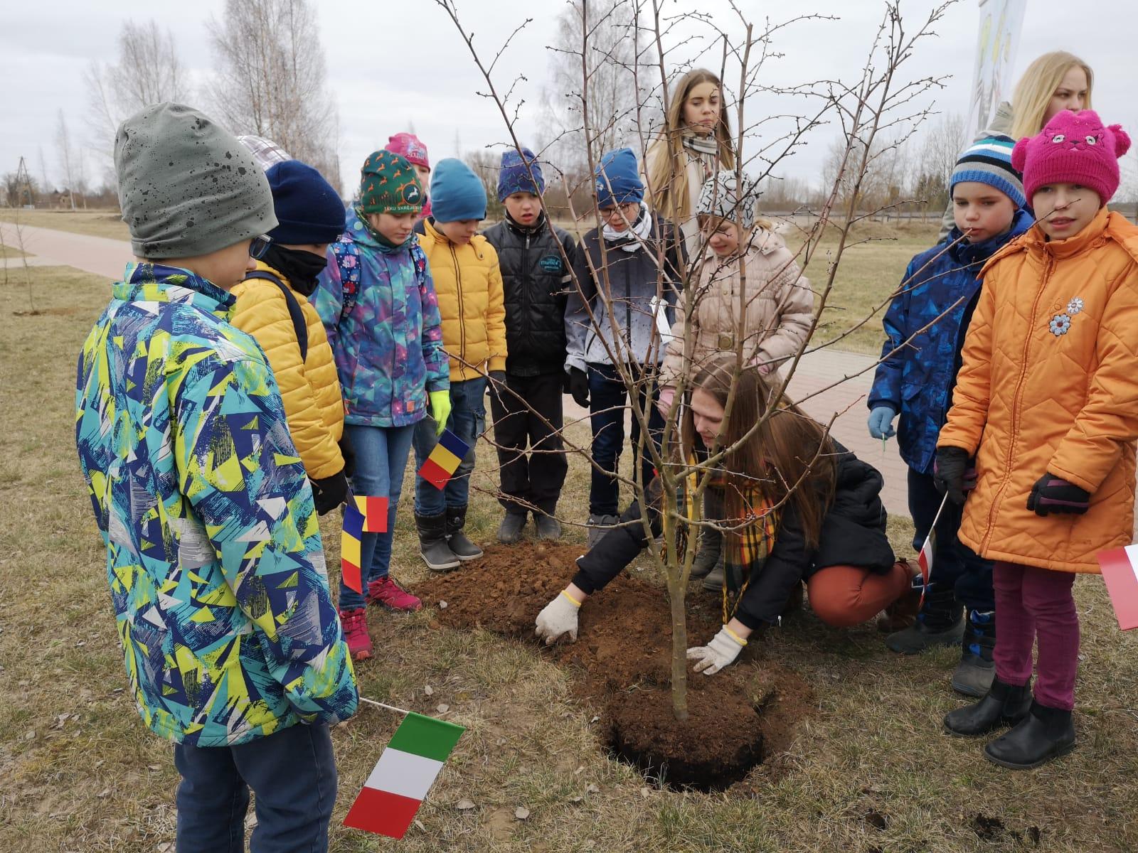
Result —
<instances>
[{"instance_id":1,"label":"pale overcast sky behind the bare trees","mask_svg":"<svg viewBox=\"0 0 1138 853\"><path fill-rule=\"evenodd\" d=\"M855 81L883 8L875 0L739 0L737 5L756 24L765 16L777 19L805 11L841 18L803 22L780 34L775 48L784 57L772 60L767 72L769 80L780 83ZM918 26L918 19L923 22L932 6L925 0L902 0L910 30ZM520 129L523 136L536 138L546 109L542 98L551 56L546 45L563 5L558 0L457 0L457 7L463 23L476 33L476 45L489 55L523 16L534 17L500 61L497 76L506 85L517 74L528 78L517 90L526 99ZM64 110L73 138L84 139L88 106L82 72L91 60L115 61L122 23L154 18L168 27L179 42L183 65L200 88L212 64L205 22L211 15L221 16L224 2L0 0L0 173L15 171L23 155L33 176L42 180L46 173L50 182L58 183L58 110ZM349 8L355 10L353 15L346 14ZM476 94L484 86L465 45L434 2L351 0L320 2L316 9L328 58L329 90L340 113L339 154L346 183L351 184L352 175L370 151L381 148L388 135L406 130L410 123L430 149L432 162L454 156L456 142L471 150L505 140L501 116ZM398 15L393 15L395 9ZM716 16L724 28L737 30L725 0L665 0L665 9L667 14L699 9ZM922 42L905 66L907 78L954 75L937 94L937 108L942 111L967 109L978 24L978 0L962 0L938 25L937 38ZM686 36L699 31L693 22L679 32ZM691 56L698 52L699 44L692 41L678 50ZM1039 53L1070 50L1095 69L1094 99L1099 114L1106 122L1120 122L1135 133L1136 45L1138 5L1132 1L1028 0L1013 80ZM707 64L715 66L718 59ZM208 111L204 97L196 96L195 101ZM764 110L784 108L773 99L767 103L760 99L750 103L748 114L753 119ZM1138 133L1135 135L1138 139ZM778 171L816 182L833 136L833 131L820 131L806 150ZM107 162L91 151L88 163L89 175L99 183Z\"/></svg>"}]
</instances>

